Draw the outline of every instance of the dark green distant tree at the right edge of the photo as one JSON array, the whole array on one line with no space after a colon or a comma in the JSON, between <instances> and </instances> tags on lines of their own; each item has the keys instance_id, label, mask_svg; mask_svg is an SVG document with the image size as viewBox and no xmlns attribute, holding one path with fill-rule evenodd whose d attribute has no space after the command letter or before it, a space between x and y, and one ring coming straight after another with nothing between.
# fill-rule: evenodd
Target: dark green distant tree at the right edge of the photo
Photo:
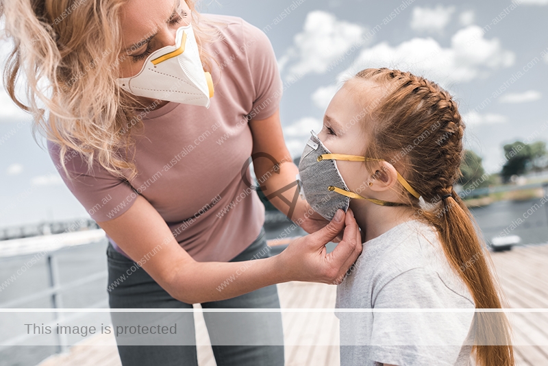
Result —
<instances>
[{"instance_id":1,"label":"dark green distant tree at the right edge of the photo","mask_svg":"<svg viewBox=\"0 0 548 366\"><path fill-rule=\"evenodd\" d=\"M525 144L516 141L504 145L506 164L502 167L501 177L503 182L508 182L512 175L523 175L528 171L540 171L546 168L546 143L537 141Z\"/></svg>"}]
</instances>

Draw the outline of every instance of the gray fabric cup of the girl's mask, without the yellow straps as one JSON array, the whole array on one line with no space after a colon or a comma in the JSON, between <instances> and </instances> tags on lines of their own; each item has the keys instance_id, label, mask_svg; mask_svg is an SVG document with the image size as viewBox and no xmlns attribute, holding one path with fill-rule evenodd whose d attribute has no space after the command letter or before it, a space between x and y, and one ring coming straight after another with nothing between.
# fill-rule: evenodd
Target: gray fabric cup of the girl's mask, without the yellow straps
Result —
<instances>
[{"instance_id":1,"label":"gray fabric cup of the girl's mask, without the yellow straps","mask_svg":"<svg viewBox=\"0 0 548 366\"><path fill-rule=\"evenodd\" d=\"M299 162L299 175L303 183L304 197L314 211L325 219L331 221L337 210L348 210L350 198L329 191L329 186L336 186L349 191L343 180L343 176L337 168L335 160L318 161L322 154L331 154L318 136L312 131L312 136L306 143L301 161Z\"/></svg>"}]
</instances>

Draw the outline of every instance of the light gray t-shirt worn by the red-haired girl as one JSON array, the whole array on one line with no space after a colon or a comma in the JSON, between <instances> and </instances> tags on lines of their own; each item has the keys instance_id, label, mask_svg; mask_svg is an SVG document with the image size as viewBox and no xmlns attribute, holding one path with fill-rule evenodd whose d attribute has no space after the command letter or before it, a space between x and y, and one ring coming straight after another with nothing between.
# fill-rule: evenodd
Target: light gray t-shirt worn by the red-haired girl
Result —
<instances>
[{"instance_id":1,"label":"light gray t-shirt worn by the red-haired girl","mask_svg":"<svg viewBox=\"0 0 548 366\"><path fill-rule=\"evenodd\" d=\"M336 308L384 309L336 312L341 366L472 364L473 297L426 223L407 221L364 243Z\"/></svg>"}]
</instances>

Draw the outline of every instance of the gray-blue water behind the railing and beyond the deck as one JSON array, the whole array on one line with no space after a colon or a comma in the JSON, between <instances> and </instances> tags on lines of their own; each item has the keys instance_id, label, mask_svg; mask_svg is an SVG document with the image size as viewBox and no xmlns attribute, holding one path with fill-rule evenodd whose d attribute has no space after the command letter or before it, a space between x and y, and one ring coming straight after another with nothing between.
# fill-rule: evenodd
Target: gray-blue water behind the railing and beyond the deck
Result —
<instances>
[{"instance_id":1,"label":"gray-blue water behind the railing and beyond the deck","mask_svg":"<svg viewBox=\"0 0 548 366\"><path fill-rule=\"evenodd\" d=\"M548 204L543 206L540 199L521 202L497 202L490 206L474 208L472 210L479 227L486 239L499 236L507 230L507 235L521 236L522 243L536 244L548 242ZM521 221L521 222L520 222ZM512 222L516 225L510 230ZM290 226L290 223L276 223L266 225L267 239L275 239ZM305 234L300 228L290 231L290 236ZM101 271L106 271L105 250L106 241L90 245L82 245L64 249L57 254L61 284L73 282ZM331 246L332 247L332 246ZM9 278L12 273L21 268L32 256L16 258L0 258L0 281ZM0 302L6 302L19 297L36 293L48 286L47 268L45 260L40 260L28 269L24 276L10 284L0 292ZM101 279L77 289L62 293L63 307L84 308L107 299L106 280ZM27 308L49 308L49 300L37 300L25 304ZM15 318L15 317L14 317ZM10 324L0 324L0 338L5 339L7 332L12 332ZM35 366L42 359L55 352L53 347L12 347L0 351L0 366Z\"/></svg>"}]
</instances>

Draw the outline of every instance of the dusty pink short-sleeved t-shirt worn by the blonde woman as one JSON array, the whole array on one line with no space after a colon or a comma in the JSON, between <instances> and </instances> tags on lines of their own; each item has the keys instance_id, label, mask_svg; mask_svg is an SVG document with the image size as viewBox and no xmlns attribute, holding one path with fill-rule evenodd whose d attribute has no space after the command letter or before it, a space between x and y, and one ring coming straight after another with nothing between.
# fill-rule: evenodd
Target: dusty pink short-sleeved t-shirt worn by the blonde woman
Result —
<instances>
[{"instance_id":1,"label":"dusty pink short-sleeved t-shirt worn by the blonde woman","mask_svg":"<svg viewBox=\"0 0 548 366\"><path fill-rule=\"evenodd\" d=\"M77 155L66 163L70 181L60 168L59 146L48 141L48 149L65 184L95 221L119 217L140 194L195 260L228 261L256 239L264 223L264 206L241 176L253 147L247 116L260 120L274 114L282 80L260 29L234 16L203 18L223 23L214 25L223 40L206 45L221 64L213 66L211 106L169 102L146 114L145 137L136 143L136 178L116 178L97 162L88 172Z\"/></svg>"}]
</instances>

